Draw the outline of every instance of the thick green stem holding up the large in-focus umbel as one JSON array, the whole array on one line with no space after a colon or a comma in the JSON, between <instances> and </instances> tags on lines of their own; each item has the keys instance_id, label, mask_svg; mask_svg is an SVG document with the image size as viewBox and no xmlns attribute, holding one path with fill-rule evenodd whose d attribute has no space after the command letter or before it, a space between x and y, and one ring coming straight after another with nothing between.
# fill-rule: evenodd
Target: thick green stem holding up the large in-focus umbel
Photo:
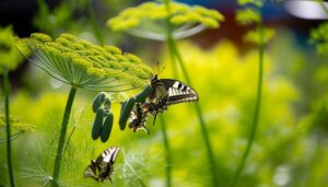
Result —
<instances>
[{"instance_id":1,"label":"thick green stem holding up the large in-focus umbel","mask_svg":"<svg viewBox=\"0 0 328 187\"><path fill-rule=\"evenodd\" d=\"M71 114L71 108L73 105L74 96L77 93L77 87L72 86L69 97L66 103L66 108L62 117L62 122L61 122L61 129L60 129L60 137L59 137L59 142L58 142L58 148L57 148L57 154L56 154L56 160L55 160L55 165L54 165L54 172L52 172L52 186L58 186L58 176L59 176L59 170L60 170L60 162L61 157L63 154L63 145L65 145L65 137L67 132L67 127Z\"/></svg>"}]
</instances>

